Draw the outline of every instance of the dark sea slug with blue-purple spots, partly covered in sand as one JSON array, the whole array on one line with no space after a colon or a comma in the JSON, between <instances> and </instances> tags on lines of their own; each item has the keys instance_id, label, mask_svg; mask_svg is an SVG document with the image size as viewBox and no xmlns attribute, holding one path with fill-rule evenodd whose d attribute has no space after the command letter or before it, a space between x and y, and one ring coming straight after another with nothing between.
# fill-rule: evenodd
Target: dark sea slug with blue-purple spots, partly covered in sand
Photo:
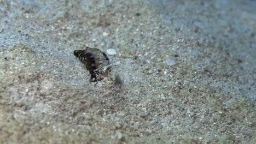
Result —
<instances>
[{"instance_id":1,"label":"dark sea slug with blue-purple spots, partly covered in sand","mask_svg":"<svg viewBox=\"0 0 256 144\"><path fill-rule=\"evenodd\" d=\"M110 64L109 58L106 53L96 48L86 47L85 50L75 50L74 55L84 63L86 69L91 74L91 81L102 80L108 65Z\"/></svg>"}]
</instances>

